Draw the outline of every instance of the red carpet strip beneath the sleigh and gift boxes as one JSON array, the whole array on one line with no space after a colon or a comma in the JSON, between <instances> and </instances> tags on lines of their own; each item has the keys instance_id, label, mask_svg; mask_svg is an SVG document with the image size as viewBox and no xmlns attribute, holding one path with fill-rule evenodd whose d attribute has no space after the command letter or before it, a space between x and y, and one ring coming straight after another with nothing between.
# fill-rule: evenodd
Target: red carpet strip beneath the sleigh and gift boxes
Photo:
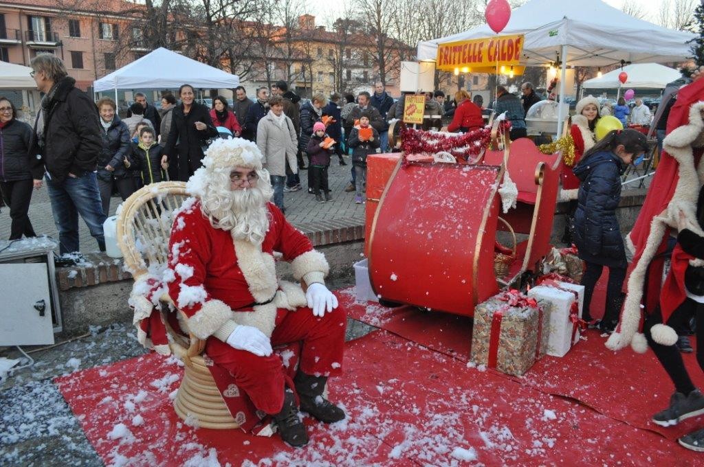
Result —
<instances>
[{"instance_id":1,"label":"red carpet strip beneath the sleigh and gift boxes","mask_svg":"<svg viewBox=\"0 0 704 467\"><path fill-rule=\"evenodd\" d=\"M594 293L595 304L598 300L603 305L604 276ZM415 307L388 309L372 303L365 307L348 303L347 297L353 295L347 290L341 291L341 297L354 319L369 324L378 323L375 326L464 362L469 359L472 344L472 320L469 318L424 312ZM602 314L603 307L595 310L596 316ZM638 428L656 431L670 440L704 426L704 416L691 418L670 428L651 423L650 416L667 407L674 390L667 373L652 351L636 354L629 348L612 352L604 346L605 341L606 338L601 337L598 331L588 330L565 357L543 357L522 378L488 371L546 394L577 399L601 414ZM704 375L696 356L684 354L684 362L695 385L704 388Z\"/></svg>"}]
</instances>

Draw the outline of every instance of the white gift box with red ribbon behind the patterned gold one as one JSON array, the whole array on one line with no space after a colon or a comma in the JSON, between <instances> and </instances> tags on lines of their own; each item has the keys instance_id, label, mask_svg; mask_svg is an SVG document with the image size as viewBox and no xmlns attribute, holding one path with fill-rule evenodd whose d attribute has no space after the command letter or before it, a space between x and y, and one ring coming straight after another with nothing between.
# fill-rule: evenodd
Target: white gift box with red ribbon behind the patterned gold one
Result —
<instances>
[{"instance_id":1,"label":"white gift box with red ribbon behind the patterned gold one","mask_svg":"<svg viewBox=\"0 0 704 467\"><path fill-rule=\"evenodd\" d=\"M579 307L579 291L572 288L575 284L562 284L569 285L570 288L536 286L528 292L529 297L551 304L547 353L554 357L564 357L572 345L579 341L579 326L582 318L582 309ZM582 287L582 295L579 297L583 295L584 287Z\"/></svg>"}]
</instances>

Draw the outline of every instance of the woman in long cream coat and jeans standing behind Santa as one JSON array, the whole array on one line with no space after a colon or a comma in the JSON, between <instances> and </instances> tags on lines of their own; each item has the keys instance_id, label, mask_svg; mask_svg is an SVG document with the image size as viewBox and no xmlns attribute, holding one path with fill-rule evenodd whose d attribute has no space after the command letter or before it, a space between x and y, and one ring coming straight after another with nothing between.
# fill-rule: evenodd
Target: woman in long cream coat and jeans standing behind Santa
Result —
<instances>
[{"instance_id":1,"label":"woman in long cream coat and jeans standing behind Santa","mask_svg":"<svg viewBox=\"0 0 704 467\"><path fill-rule=\"evenodd\" d=\"M263 165L269 171L274 188L274 204L282 212L284 208L284 183L286 182L286 160L294 174L298 173L298 139L291 119L284 114L284 98L269 98L269 113L257 126L257 146L264 155Z\"/></svg>"}]
</instances>

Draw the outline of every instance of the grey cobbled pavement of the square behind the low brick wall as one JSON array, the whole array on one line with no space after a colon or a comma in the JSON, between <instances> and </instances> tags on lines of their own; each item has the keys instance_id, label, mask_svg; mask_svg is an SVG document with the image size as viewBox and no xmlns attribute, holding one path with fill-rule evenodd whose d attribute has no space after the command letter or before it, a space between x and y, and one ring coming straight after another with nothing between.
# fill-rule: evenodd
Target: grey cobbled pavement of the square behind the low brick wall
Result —
<instances>
[{"instance_id":1,"label":"grey cobbled pavement of the square behind the low brick wall","mask_svg":"<svg viewBox=\"0 0 704 467\"><path fill-rule=\"evenodd\" d=\"M296 227L303 231L311 231L321 222L335 221L344 226L364 224L364 205L354 203L354 193L347 193L344 188L350 179L350 158L346 158L347 165L341 167L337 158L332 162L328 171L329 186L332 190L332 202L321 204L315 202L315 197L308 194L306 187L308 182L308 171L301 171L301 182L303 190L294 193L284 193L284 204L287 208L287 219ZM113 196L110 203L110 215L115 214L118 205L122 200L118 196ZM51 203L49 193L44 186L39 191L34 191L32 203L30 205L30 220L34 231L37 234L46 234L58 240L58 231L54 224L51 213ZM10 209L2 207L0 212L0 238L10 237ZM96 241L88 231L88 227L82 219L78 221L80 233L80 249L82 252L94 252L98 250Z\"/></svg>"}]
</instances>

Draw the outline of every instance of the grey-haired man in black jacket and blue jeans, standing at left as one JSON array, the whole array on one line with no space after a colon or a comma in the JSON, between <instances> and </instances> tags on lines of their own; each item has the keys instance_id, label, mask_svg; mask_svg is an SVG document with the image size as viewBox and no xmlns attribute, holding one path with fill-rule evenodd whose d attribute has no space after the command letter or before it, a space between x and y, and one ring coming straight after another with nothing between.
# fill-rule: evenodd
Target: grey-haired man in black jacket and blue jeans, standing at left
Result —
<instances>
[{"instance_id":1,"label":"grey-haired man in black jacket and blue jeans, standing at left","mask_svg":"<svg viewBox=\"0 0 704 467\"><path fill-rule=\"evenodd\" d=\"M44 93L30 145L32 177L42 179L46 169L61 254L78 251L79 214L105 251L106 216L96 179L103 149L98 109L75 87L61 58L39 53L30 66L37 89Z\"/></svg>"}]
</instances>

